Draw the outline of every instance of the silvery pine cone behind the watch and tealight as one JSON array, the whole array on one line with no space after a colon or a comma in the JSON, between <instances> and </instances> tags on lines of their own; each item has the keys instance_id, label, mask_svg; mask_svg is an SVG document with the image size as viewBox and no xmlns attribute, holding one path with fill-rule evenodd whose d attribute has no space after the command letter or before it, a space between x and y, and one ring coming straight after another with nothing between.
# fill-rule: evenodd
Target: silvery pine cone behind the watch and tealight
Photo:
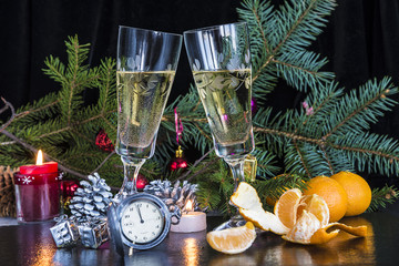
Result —
<instances>
[{"instance_id":1,"label":"silvery pine cone behind the watch and tealight","mask_svg":"<svg viewBox=\"0 0 399 266\"><path fill-rule=\"evenodd\" d=\"M195 195L197 187L197 184L190 184L187 181L184 181L181 187L180 181L176 181L171 186L170 181L162 182L157 180L150 182L150 185L144 187L144 192L160 197L167 205L170 212L173 212L175 206L180 207L182 212L186 212L185 208L188 201L193 204L193 211L198 209Z\"/></svg>"}]
</instances>

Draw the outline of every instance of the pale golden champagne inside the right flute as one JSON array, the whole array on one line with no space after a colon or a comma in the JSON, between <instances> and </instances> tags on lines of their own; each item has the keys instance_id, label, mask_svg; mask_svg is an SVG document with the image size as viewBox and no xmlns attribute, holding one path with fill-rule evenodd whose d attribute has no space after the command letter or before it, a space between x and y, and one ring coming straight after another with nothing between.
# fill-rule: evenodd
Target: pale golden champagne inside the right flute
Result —
<instances>
[{"instance_id":1,"label":"pale golden champagne inside the right flute","mask_svg":"<svg viewBox=\"0 0 399 266\"><path fill-rule=\"evenodd\" d=\"M222 146L243 144L249 137L250 69L193 71L206 116Z\"/></svg>"}]
</instances>

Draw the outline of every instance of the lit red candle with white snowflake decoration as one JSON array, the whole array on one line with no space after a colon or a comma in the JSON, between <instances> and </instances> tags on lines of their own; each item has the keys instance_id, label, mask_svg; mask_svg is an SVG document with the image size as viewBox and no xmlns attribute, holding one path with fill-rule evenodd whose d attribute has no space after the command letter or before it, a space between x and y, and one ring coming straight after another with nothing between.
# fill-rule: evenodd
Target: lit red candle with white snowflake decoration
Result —
<instances>
[{"instance_id":1,"label":"lit red candle with white snowflake decoration","mask_svg":"<svg viewBox=\"0 0 399 266\"><path fill-rule=\"evenodd\" d=\"M39 151L37 164L22 165L14 174L17 218L20 222L39 222L60 214L60 175L58 163L43 163Z\"/></svg>"}]
</instances>

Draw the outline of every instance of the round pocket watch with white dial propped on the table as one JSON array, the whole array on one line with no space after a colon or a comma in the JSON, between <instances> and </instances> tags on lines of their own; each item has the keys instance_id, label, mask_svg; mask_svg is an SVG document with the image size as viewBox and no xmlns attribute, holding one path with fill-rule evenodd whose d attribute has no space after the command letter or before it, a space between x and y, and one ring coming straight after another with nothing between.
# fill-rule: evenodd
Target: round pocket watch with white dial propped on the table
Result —
<instances>
[{"instance_id":1,"label":"round pocket watch with white dial propped on the table","mask_svg":"<svg viewBox=\"0 0 399 266\"><path fill-rule=\"evenodd\" d=\"M172 223L175 217L176 223ZM171 224L177 224L181 209L171 213L158 197L147 193L126 196L120 204L112 203L108 209L108 226L116 252L124 256L126 248L149 249L166 237Z\"/></svg>"}]
</instances>

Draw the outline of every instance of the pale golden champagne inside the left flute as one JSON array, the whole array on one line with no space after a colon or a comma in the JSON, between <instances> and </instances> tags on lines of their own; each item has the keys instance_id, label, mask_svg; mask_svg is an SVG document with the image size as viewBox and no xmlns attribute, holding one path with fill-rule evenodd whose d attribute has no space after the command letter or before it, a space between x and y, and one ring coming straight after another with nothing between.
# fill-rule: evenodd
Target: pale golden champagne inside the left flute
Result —
<instances>
[{"instance_id":1,"label":"pale golden champagne inside the left flute","mask_svg":"<svg viewBox=\"0 0 399 266\"><path fill-rule=\"evenodd\" d=\"M174 71L116 72L119 154L137 155L152 144L174 75Z\"/></svg>"}]
</instances>

